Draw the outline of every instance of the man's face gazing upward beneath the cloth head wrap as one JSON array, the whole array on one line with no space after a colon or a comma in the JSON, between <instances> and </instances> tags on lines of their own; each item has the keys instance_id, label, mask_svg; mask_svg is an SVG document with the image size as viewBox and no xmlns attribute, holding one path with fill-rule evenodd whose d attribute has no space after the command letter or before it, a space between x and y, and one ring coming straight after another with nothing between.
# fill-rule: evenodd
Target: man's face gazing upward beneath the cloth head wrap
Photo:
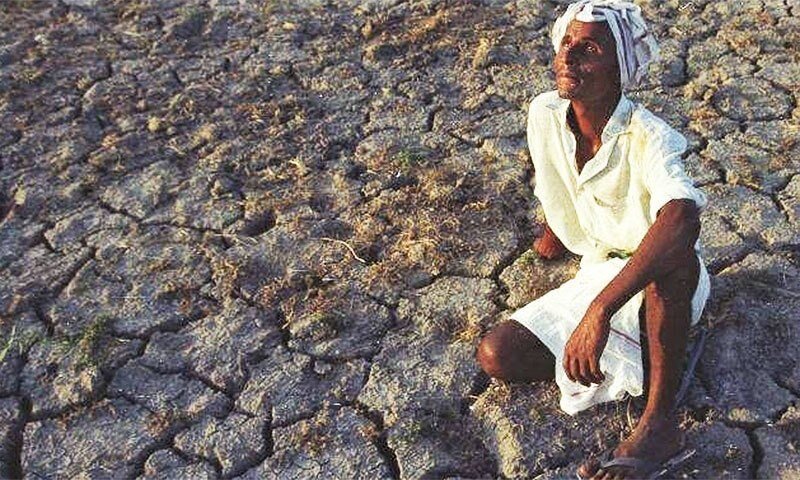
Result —
<instances>
[{"instance_id":1,"label":"man's face gazing upward beneath the cloth head wrap","mask_svg":"<svg viewBox=\"0 0 800 480\"><path fill-rule=\"evenodd\" d=\"M553 62L561 98L593 101L620 89L616 43L606 22L573 20Z\"/></svg>"}]
</instances>

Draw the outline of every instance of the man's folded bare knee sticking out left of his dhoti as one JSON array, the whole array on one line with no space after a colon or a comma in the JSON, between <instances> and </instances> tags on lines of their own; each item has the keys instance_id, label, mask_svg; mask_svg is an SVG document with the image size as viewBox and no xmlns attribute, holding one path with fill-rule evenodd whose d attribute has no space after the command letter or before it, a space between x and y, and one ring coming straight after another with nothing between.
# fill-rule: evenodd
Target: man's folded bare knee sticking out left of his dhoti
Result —
<instances>
[{"instance_id":1,"label":"man's folded bare knee sticking out left of his dhoti","mask_svg":"<svg viewBox=\"0 0 800 480\"><path fill-rule=\"evenodd\" d=\"M515 320L501 323L483 337L476 358L489 376L509 382L551 380L555 374L553 354Z\"/></svg>"}]
</instances>

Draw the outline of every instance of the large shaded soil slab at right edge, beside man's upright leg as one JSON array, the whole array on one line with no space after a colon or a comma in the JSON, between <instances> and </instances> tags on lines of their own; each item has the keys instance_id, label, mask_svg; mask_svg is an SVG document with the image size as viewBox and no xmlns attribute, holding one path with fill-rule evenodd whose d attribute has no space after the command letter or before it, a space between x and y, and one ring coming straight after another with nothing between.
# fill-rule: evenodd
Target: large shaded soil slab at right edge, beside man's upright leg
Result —
<instances>
[{"instance_id":1,"label":"large shaded soil slab at right edge, beside man's upright leg","mask_svg":"<svg viewBox=\"0 0 800 480\"><path fill-rule=\"evenodd\" d=\"M708 394L727 420L763 424L794 402L800 341L795 291L800 271L780 255L755 253L723 270L707 315L713 325L700 361Z\"/></svg>"}]
</instances>

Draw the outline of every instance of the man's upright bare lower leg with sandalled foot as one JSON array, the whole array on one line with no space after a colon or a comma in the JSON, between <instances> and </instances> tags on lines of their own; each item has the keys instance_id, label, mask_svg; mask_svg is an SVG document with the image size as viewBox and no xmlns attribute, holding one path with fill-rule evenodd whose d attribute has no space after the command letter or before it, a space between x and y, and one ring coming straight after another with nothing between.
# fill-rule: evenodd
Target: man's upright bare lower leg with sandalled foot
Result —
<instances>
[{"instance_id":1,"label":"man's upright bare lower leg with sandalled foot","mask_svg":"<svg viewBox=\"0 0 800 480\"><path fill-rule=\"evenodd\" d=\"M675 415L675 396L680 388L686 356L692 297L697 288L700 264L694 252L665 277L645 288L645 328L650 371L647 404L631 436L622 442L615 457L636 457L661 462L681 448L682 433ZM617 479L634 477L624 467L597 470L597 463L584 465L581 476Z\"/></svg>"}]
</instances>

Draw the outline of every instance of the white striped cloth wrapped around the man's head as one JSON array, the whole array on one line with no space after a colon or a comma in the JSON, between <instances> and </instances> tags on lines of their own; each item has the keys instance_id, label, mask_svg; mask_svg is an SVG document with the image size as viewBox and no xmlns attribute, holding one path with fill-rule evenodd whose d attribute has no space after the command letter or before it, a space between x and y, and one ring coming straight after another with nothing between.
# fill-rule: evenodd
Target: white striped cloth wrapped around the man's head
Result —
<instances>
[{"instance_id":1,"label":"white striped cloth wrapped around the man's head","mask_svg":"<svg viewBox=\"0 0 800 480\"><path fill-rule=\"evenodd\" d=\"M556 52L572 20L608 23L617 44L619 78L623 87L639 83L647 73L647 65L658 60L658 45L647 30L638 5L621 0L580 0L569 5L553 25L551 37Z\"/></svg>"}]
</instances>

